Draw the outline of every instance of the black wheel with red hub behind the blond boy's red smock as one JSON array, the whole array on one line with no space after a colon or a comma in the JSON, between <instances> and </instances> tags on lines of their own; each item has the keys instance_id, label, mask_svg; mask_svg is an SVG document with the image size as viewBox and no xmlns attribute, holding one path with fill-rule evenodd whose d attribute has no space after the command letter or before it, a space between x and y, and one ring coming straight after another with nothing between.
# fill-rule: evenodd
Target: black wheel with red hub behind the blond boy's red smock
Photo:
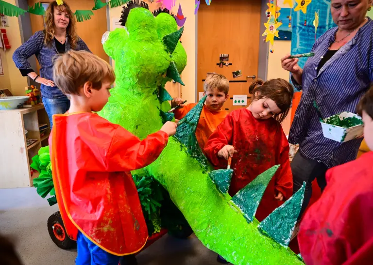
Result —
<instances>
[{"instance_id":1,"label":"black wheel with red hub behind the blond boy's red smock","mask_svg":"<svg viewBox=\"0 0 373 265\"><path fill-rule=\"evenodd\" d=\"M66 233L64 222L62 221L60 212L55 212L48 218L47 222L48 233L51 236L54 244L60 249L76 248L76 241L71 240Z\"/></svg>"}]
</instances>

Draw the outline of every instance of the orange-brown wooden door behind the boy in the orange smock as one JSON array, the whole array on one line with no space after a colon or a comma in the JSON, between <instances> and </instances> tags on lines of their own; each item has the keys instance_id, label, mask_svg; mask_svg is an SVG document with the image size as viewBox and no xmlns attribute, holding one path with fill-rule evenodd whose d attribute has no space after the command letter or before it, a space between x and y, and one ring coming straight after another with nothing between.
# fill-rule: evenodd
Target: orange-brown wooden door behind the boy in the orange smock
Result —
<instances>
[{"instance_id":1,"label":"orange-brown wooden door behind the boy in the orange smock","mask_svg":"<svg viewBox=\"0 0 373 265\"><path fill-rule=\"evenodd\" d=\"M214 0L210 6L201 3L198 11L197 90L203 92L206 73L224 75L230 81L229 99L223 107L228 111L245 107L233 106L233 95L250 97L253 79L247 77L258 75L260 12L259 0ZM220 68L220 54L229 54L232 65ZM237 70L242 77L233 78Z\"/></svg>"}]
</instances>

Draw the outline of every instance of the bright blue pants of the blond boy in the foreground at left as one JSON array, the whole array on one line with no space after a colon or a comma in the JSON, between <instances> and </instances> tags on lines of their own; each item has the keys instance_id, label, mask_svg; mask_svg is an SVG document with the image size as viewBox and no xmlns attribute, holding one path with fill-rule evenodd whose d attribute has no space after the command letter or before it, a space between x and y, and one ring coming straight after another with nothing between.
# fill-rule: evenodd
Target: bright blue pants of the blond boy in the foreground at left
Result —
<instances>
[{"instance_id":1,"label":"bright blue pants of the blond boy in the foreground at left","mask_svg":"<svg viewBox=\"0 0 373 265\"><path fill-rule=\"evenodd\" d=\"M76 265L118 265L119 256L115 256L100 249L92 241L85 237L84 234L78 232L76 240L78 245L78 256L76 257Z\"/></svg>"}]
</instances>

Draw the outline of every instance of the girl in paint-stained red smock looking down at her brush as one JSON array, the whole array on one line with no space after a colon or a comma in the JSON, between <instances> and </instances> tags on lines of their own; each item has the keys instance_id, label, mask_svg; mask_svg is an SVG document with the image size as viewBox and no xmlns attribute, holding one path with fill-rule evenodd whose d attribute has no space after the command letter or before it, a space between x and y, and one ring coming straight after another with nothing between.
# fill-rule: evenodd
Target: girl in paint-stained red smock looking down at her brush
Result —
<instances>
[{"instance_id":1,"label":"girl in paint-stained red smock looking down at her brush","mask_svg":"<svg viewBox=\"0 0 373 265\"><path fill-rule=\"evenodd\" d=\"M246 109L237 109L210 136L204 152L217 168L226 168L232 157L229 194L248 185L256 176L280 164L259 204L255 217L261 221L292 195L292 175L288 140L281 127L290 108L292 86L284 79L264 82L255 80L249 93L252 102Z\"/></svg>"}]
</instances>

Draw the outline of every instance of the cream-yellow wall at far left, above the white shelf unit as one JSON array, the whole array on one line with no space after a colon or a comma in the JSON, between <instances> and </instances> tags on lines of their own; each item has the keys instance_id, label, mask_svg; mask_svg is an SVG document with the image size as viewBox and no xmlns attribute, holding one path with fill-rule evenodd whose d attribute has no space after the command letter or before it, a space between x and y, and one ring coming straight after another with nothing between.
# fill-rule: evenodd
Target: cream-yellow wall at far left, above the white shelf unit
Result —
<instances>
[{"instance_id":1,"label":"cream-yellow wall at far left, above the white shelf unit","mask_svg":"<svg viewBox=\"0 0 373 265\"><path fill-rule=\"evenodd\" d=\"M5 2L17 5L16 0L5 0ZM21 73L16 67L12 60L14 51L22 44L21 32L19 29L18 17L8 16L9 27L6 27L6 33L9 39L9 43L12 46L6 50L6 54L1 53L1 59L4 67L4 72L8 72L9 85L8 89L13 95L25 95L25 87L27 87L27 78L22 77ZM5 58L5 59L4 59ZM6 63L4 63L6 62ZM4 73L5 74L5 73ZM6 77L4 78L6 82ZM2 86L2 78L1 86Z\"/></svg>"}]
</instances>

